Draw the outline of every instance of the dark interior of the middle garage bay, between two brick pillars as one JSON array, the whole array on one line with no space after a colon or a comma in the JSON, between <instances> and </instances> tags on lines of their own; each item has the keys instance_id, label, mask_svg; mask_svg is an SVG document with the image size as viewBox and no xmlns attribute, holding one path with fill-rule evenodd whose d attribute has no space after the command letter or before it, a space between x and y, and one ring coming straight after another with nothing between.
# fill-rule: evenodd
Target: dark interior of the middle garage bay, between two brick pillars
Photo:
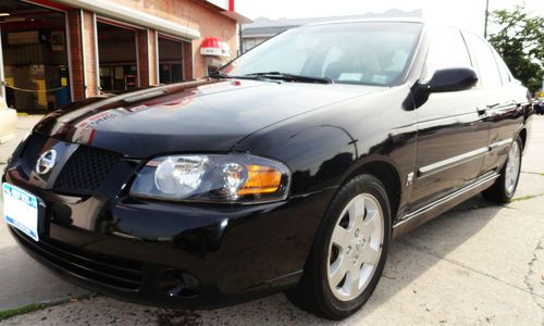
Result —
<instances>
[{"instance_id":1,"label":"dark interior of the middle garage bay, between two brick pillars","mask_svg":"<svg viewBox=\"0 0 544 326\"><path fill-rule=\"evenodd\" d=\"M97 22L100 89L119 93L139 86L136 32Z\"/></svg>"}]
</instances>

